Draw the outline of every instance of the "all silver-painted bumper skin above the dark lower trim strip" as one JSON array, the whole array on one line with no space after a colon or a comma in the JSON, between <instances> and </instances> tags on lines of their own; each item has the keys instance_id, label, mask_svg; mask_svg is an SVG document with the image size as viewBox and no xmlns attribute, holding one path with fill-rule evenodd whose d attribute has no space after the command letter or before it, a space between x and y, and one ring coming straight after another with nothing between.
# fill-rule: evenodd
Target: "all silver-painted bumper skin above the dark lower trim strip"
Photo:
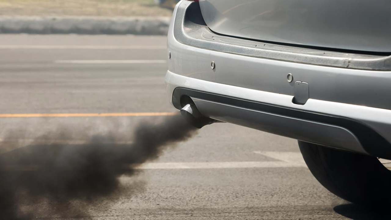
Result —
<instances>
[{"instance_id":1,"label":"all silver-painted bumper skin above the dark lower trim strip","mask_svg":"<svg viewBox=\"0 0 391 220\"><path fill-rule=\"evenodd\" d=\"M338 115L367 124L391 142L390 71L308 65L192 47L174 37L178 5L170 24L167 43L171 59L168 60L169 70L165 81L170 101L176 87L186 87ZM215 69L211 69L211 61L215 62ZM288 73L294 76L291 83L287 82ZM295 81L305 81L310 85L309 99L305 105L292 103ZM221 115L216 113L213 117L224 117L225 113L221 111ZM240 123L251 125L251 121L247 120Z\"/></svg>"}]
</instances>

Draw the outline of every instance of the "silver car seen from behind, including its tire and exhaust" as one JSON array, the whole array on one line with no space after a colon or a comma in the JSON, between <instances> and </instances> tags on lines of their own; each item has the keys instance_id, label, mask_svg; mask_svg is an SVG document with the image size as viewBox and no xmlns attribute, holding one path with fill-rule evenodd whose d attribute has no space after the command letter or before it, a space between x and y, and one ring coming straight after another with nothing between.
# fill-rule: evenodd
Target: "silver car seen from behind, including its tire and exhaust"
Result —
<instances>
[{"instance_id":1,"label":"silver car seen from behind, including its tire and exhaust","mask_svg":"<svg viewBox=\"0 0 391 220\"><path fill-rule=\"evenodd\" d=\"M170 101L298 139L312 174L357 204L390 202L391 2L179 2L168 33Z\"/></svg>"}]
</instances>

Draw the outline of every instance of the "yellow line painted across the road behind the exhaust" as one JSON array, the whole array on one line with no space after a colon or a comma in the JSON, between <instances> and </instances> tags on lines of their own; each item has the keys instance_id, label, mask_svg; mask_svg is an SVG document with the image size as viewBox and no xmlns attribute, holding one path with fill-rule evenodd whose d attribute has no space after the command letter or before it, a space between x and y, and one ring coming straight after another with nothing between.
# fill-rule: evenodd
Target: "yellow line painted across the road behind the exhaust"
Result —
<instances>
[{"instance_id":1,"label":"yellow line painted across the road behind the exhaust","mask_svg":"<svg viewBox=\"0 0 391 220\"><path fill-rule=\"evenodd\" d=\"M60 114L0 114L0 118L38 118L38 117L142 117L171 116L178 112L134 112L134 113L60 113Z\"/></svg>"}]
</instances>

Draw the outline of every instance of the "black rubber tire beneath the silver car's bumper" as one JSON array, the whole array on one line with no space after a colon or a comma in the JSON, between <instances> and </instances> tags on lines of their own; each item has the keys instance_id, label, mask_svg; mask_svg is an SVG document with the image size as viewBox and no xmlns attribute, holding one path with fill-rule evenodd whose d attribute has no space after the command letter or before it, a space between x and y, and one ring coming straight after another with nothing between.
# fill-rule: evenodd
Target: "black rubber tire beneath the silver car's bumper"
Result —
<instances>
[{"instance_id":1,"label":"black rubber tire beneath the silver car's bumper","mask_svg":"<svg viewBox=\"0 0 391 220\"><path fill-rule=\"evenodd\" d=\"M390 204L391 171L376 157L298 142L312 175L330 192L359 205Z\"/></svg>"}]
</instances>

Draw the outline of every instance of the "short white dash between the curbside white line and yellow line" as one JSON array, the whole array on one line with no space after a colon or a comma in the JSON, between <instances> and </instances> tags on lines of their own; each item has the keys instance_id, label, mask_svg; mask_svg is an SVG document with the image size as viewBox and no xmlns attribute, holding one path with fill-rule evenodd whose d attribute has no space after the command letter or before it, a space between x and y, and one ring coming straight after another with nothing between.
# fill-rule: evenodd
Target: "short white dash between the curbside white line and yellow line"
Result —
<instances>
[{"instance_id":1,"label":"short white dash between the curbside white line and yellow line","mask_svg":"<svg viewBox=\"0 0 391 220\"><path fill-rule=\"evenodd\" d=\"M167 63L166 60L56 60L55 63L67 64L145 64Z\"/></svg>"}]
</instances>

